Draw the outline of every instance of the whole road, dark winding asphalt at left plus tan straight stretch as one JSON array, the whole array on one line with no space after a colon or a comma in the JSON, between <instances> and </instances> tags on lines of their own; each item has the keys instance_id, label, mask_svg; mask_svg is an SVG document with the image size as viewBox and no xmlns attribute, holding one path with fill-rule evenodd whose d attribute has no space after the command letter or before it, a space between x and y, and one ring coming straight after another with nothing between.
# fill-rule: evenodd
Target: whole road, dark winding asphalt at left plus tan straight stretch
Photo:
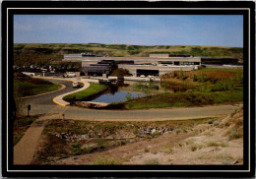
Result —
<instances>
[{"instance_id":1,"label":"whole road, dark winding asphalt at left plus tan straight stretch","mask_svg":"<svg viewBox=\"0 0 256 179\"><path fill-rule=\"evenodd\" d=\"M71 106L64 107L54 103L53 98L57 95L76 90L72 88L72 82L60 80L48 81L63 84L66 86L66 89L25 99L25 114L27 114L27 105L31 104L31 114L45 114L49 112L53 114L61 114L63 111L65 111L64 114L66 119L96 121L184 120L225 115L239 106L239 104L230 104L203 107L179 107L141 110L96 110Z\"/></svg>"}]
</instances>

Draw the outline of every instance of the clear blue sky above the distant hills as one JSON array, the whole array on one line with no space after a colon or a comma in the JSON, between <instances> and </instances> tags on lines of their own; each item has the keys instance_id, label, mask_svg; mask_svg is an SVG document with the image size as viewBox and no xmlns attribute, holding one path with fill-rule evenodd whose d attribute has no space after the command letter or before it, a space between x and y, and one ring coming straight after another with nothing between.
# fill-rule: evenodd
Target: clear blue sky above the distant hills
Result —
<instances>
[{"instance_id":1,"label":"clear blue sky above the distant hills","mask_svg":"<svg viewBox=\"0 0 256 179\"><path fill-rule=\"evenodd\" d=\"M14 43L243 46L241 15L14 15Z\"/></svg>"}]
</instances>

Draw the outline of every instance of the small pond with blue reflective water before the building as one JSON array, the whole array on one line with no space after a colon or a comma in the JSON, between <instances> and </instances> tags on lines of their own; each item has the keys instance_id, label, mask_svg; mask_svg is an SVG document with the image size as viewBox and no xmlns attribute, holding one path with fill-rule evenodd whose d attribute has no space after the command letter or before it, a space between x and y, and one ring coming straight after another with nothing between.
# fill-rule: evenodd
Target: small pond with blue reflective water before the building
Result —
<instances>
[{"instance_id":1,"label":"small pond with blue reflective water before the building","mask_svg":"<svg viewBox=\"0 0 256 179\"><path fill-rule=\"evenodd\" d=\"M125 100L131 99L131 98L142 97L145 95L146 95L146 93L143 93L143 92L118 90L114 93L110 93L110 92L104 93L104 94L96 97L96 99L94 99L92 101L106 102L106 103L120 102L120 101L125 101Z\"/></svg>"}]
</instances>

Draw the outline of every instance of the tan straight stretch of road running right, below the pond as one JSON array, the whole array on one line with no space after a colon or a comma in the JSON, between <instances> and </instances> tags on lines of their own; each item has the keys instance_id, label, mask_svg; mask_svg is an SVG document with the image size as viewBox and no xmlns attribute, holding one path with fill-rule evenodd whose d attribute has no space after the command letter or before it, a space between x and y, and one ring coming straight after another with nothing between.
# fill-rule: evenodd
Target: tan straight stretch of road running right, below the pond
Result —
<instances>
[{"instance_id":1,"label":"tan straight stretch of road running right, below the pond","mask_svg":"<svg viewBox=\"0 0 256 179\"><path fill-rule=\"evenodd\" d=\"M65 111L65 117L66 119L95 121L184 120L225 115L237 108L238 106L238 104L234 104L144 110L94 110L68 107Z\"/></svg>"}]
</instances>

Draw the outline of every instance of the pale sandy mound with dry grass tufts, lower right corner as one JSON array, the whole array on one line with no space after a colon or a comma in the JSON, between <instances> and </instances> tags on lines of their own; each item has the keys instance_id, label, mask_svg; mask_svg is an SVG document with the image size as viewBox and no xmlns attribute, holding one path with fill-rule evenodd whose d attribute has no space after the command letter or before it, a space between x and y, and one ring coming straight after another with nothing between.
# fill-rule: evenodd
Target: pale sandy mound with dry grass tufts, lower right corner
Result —
<instances>
[{"instance_id":1,"label":"pale sandy mound with dry grass tufts, lower right corner","mask_svg":"<svg viewBox=\"0 0 256 179\"><path fill-rule=\"evenodd\" d=\"M125 164L242 164L243 109L196 126L197 135L169 144L157 154L133 156Z\"/></svg>"}]
</instances>

